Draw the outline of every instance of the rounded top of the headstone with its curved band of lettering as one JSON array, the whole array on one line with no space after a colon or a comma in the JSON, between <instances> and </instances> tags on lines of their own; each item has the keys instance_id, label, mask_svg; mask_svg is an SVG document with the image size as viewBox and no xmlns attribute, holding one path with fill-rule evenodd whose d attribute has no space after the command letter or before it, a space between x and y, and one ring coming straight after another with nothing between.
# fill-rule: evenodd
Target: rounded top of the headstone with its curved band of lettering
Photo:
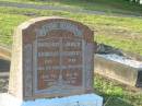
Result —
<instances>
[{"instance_id":1,"label":"rounded top of the headstone with its curved band of lettering","mask_svg":"<svg viewBox=\"0 0 142 106\"><path fill-rule=\"evenodd\" d=\"M43 34L47 35L50 31L68 31L70 33L73 33L73 35L82 37L87 42L94 42L93 31L90 30L90 27L83 25L80 22L59 16L42 16L32 19L21 24L17 30L22 31L23 33L26 33L24 34L26 36L37 35L37 32L38 35L39 32L40 34L43 32Z\"/></svg>"}]
</instances>

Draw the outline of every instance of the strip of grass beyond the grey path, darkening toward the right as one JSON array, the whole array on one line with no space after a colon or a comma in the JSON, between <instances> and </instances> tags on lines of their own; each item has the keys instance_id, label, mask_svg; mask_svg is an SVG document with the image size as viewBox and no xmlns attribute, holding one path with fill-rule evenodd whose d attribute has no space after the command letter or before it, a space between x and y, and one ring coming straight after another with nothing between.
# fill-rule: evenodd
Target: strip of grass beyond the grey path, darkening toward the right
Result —
<instances>
[{"instance_id":1,"label":"strip of grass beyond the grey path, darkening toward the right","mask_svg":"<svg viewBox=\"0 0 142 106\"><path fill-rule=\"evenodd\" d=\"M68 7L72 9L85 9L104 11L106 13L133 14L142 16L142 5L129 2L129 0L0 0L21 3L47 4Z\"/></svg>"}]
</instances>

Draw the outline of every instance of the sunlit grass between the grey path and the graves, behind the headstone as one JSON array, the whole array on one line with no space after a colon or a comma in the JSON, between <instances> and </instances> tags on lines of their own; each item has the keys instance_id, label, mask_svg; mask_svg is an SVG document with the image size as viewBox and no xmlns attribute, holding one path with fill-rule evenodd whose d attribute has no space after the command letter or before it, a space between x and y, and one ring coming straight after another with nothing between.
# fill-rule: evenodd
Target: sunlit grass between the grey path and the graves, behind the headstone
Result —
<instances>
[{"instance_id":1,"label":"sunlit grass between the grey path and the graves, behind the headstone","mask_svg":"<svg viewBox=\"0 0 142 106\"><path fill-rule=\"evenodd\" d=\"M0 43L11 45L11 35L13 34L13 28L20 23L39 15L58 15L80 21L94 30L94 40L142 55L142 19L87 15L61 11L39 11L34 9L1 7Z\"/></svg>"}]
</instances>

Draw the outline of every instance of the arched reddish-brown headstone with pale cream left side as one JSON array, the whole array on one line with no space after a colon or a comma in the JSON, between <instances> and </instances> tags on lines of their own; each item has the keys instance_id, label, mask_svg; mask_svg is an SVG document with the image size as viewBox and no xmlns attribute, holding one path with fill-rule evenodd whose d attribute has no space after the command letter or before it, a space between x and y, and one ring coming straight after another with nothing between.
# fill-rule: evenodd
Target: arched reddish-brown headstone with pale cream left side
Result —
<instances>
[{"instance_id":1,"label":"arched reddish-brown headstone with pale cream left side","mask_svg":"<svg viewBox=\"0 0 142 106\"><path fill-rule=\"evenodd\" d=\"M94 38L85 25L38 17L14 34L9 93L21 99L93 92Z\"/></svg>"}]
</instances>

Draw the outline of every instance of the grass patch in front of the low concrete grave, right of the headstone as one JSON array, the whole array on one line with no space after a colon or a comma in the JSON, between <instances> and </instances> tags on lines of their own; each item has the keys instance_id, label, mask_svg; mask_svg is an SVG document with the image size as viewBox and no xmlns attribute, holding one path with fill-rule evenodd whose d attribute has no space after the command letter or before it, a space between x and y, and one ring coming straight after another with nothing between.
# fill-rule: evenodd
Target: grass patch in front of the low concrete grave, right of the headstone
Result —
<instances>
[{"instance_id":1,"label":"grass patch in front of the low concrete grave, right of the headstone","mask_svg":"<svg viewBox=\"0 0 142 106\"><path fill-rule=\"evenodd\" d=\"M135 92L128 86L95 76L94 87L105 101L105 106L142 106L142 92Z\"/></svg>"}]
</instances>

